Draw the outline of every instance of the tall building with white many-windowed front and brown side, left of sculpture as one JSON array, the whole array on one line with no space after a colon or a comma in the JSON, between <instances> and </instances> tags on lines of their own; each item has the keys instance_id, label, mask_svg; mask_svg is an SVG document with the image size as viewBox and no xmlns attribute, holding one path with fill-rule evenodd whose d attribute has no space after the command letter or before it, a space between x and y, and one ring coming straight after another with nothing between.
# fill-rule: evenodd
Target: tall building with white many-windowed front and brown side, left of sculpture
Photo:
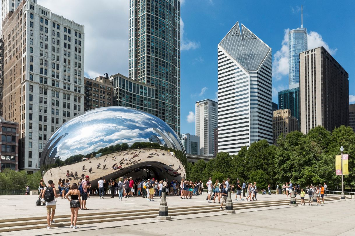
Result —
<instances>
[{"instance_id":1,"label":"tall building with white many-windowed front and brown side, left of sculpture","mask_svg":"<svg viewBox=\"0 0 355 236\"><path fill-rule=\"evenodd\" d=\"M84 26L32 1L2 23L3 116L20 124L19 168L32 173L51 134L84 111Z\"/></svg>"}]
</instances>

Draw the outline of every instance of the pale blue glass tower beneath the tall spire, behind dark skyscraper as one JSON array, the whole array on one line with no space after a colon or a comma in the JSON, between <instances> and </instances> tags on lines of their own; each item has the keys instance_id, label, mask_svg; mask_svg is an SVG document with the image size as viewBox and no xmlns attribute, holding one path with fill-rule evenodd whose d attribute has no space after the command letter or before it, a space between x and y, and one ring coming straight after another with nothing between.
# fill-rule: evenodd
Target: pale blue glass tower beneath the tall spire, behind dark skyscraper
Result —
<instances>
[{"instance_id":1,"label":"pale blue glass tower beneath the tall spire, behind dark skyscraper","mask_svg":"<svg viewBox=\"0 0 355 236\"><path fill-rule=\"evenodd\" d=\"M299 87L300 52L307 50L307 29L297 28L289 31L289 88Z\"/></svg>"}]
</instances>

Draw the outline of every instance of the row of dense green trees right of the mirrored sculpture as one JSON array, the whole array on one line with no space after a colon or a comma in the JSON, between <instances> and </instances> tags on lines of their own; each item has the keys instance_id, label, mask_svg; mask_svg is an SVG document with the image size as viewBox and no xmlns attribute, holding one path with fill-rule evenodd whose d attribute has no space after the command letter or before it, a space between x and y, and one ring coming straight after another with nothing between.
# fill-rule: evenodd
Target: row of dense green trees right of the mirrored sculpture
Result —
<instances>
[{"instance_id":1,"label":"row of dense green trees right of the mirrored sculpture","mask_svg":"<svg viewBox=\"0 0 355 236\"><path fill-rule=\"evenodd\" d=\"M307 135L294 131L286 137L280 136L276 145L269 145L260 140L242 147L238 155L219 152L215 159L199 160L189 166L187 179L207 181L230 178L231 183L237 179L245 182L257 182L259 188L268 184L285 182L300 184L327 183L329 189L340 189L341 177L335 174L335 155L349 154L349 175L344 175L344 185L352 190L355 185L355 133L351 127L340 126L332 132L323 126L317 126Z\"/></svg>"}]
</instances>

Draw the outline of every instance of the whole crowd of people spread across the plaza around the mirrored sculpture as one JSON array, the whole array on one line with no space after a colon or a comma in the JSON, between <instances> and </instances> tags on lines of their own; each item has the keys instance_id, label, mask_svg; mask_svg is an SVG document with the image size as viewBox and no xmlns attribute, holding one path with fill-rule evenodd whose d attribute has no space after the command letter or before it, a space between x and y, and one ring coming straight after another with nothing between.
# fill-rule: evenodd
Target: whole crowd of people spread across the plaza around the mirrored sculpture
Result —
<instances>
[{"instance_id":1,"label":"whole crowd of people spread across the plaza around the mirrored sculpture","mask_svg":"<svg viewBox=\"0 0 355 236\"><path fill-rule=\"evenodd\" d=\"M230 179L219 181L215 180L212 183L210 177L207 182L181 179L178 182L177 179L169 182L168 179L157 180L152 179L139 179L133 180L132 177L121 177L118 180L110 179L108 182L104 178L100 178L97 184L97 188L92 188L89 176L82 176L78 183L70 183L70 179L59 179L57 195L56 188L53 180L49 180L48 187L44 187L43 179L40 180L40 197L45 199L45 205L47 208L47 229L50 229L50 224L55 223L55 197L61 197L70 201L71 209L71 226L70 228L76 229L76 221L78 210L88 210L86 208L86 201L90 194L99 195L100 198L104 198L105 194L111 194L111 198L115 196L119 197L119 201L122 198L128 198L133 196L141 196L147 198L147 201L154 201L154 197L162 197L164 187L167 196L180 196L181 199L191 199L192 196L198 196L204 194L204 189L207 190L208 203L220 204L220 209L223 209L223 204L226 203L228 191L231 194L235 194L235 201L257 201L258 188L257 183L245 183L237 180L236 184L230 185ZM276 194L279 194L279 190L282 194L291 197L291 190L294 190L294 195L300 195L301 205L305 205L305 197L308 195L308 205L313 206L313 199L317 200L317 206L321 206L321 201L324 204L324 196L327 196L327 185L312 185L306 187L306 191L300 188L300 185L293 185L291 182L286 182L282 185L282 189L279 189L279 185L276 187ZM110 191L110 192L109 192ZM271 185L268 184L267 190L261 190L263 195L267 192L271 195ZM52 196L53 195L53 196ZM243 195L243 196L242 196ZM69 199L71 196L71 199ZM234 195L233 195L234 196ZM232 197L233 197L232 196ZM238 199L239 198L239 199ZM217 202L218 200L218 202Z\"/></svg>"}]
</instances>

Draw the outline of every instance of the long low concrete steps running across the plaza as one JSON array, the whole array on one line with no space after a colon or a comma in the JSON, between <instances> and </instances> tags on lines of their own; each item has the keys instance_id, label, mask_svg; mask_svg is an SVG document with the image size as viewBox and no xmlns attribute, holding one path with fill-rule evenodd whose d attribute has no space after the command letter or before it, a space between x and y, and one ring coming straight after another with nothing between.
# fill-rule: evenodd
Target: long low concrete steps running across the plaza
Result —
<instances>
[{"instance_id":1,"label":"long low concrete steps running across the plaza","mask_svg":"<svg viewBox=\"0 0 355 236\"><path fill-rule=\"evenodd\" d=\"M328 197L326 201L339 200L340 197ZM289 200L277 200L277 201L257 201L257 202L243 202L243 203L233 203L234 210L238 209L249 209L258 207L270 207L270 206L284 206L288 205ZM297 203L300 199L297 199ZM197 209L198 208L198 209ZM186 206L186 207L172 207L169 208L169 215L187 215L187 214L198 214L198 213L209 213L223 211L219 209L219 204L209 204L201 206ZM124 214L124 215L122 215ZM111 212L100 212L100 213L82 213L78 215L78 225L82 224L94 224L102 222L112 222L120 220L129 219L142 219L142 218L154 218L159 214L158 209L143 209L134 211L111 211ZM28 230L28 229L40 229L47 227L46 217L24 217L17 219L4 219L5 222L0 223L0 232L18 231L18 230ZM53 224L54 227L69 226L70 215L58 215L55 217L56 223Z\"/></svg>"}]
</instances>

